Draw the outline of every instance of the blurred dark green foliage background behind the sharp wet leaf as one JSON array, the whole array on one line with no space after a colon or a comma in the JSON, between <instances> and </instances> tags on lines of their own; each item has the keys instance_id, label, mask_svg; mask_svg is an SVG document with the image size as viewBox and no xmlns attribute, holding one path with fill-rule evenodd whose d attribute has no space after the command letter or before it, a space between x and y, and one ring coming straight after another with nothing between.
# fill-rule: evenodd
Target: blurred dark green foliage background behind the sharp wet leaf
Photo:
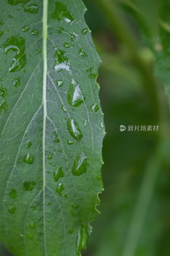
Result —
<instances>
[{"instance_id":1,"label":"blurred dark green foliage background behind the sharp wet leaf","mask_svg":"<svg viewBox=\"0 0 170 256\"><path fill-rule=\"evenodd\" d=\"M101 214L82 256L169 256L170 1L83 1L102 60L97 81L107 134ZM159 131L120 132L121 124ZM10 255L3 245L0 255Z\"/></svg>"}]
</instances>

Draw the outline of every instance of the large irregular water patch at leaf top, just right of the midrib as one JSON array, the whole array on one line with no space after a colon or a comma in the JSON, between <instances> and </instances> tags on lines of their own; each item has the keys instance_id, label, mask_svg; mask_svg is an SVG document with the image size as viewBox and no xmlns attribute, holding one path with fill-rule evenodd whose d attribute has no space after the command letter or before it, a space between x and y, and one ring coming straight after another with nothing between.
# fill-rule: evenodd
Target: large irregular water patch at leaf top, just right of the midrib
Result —
<instances>
[{"instance_id":1,"label":"large irregular water patch at leaf top, just right of the midrib","mask_svg":"<svg viewBox=\"0 0 170 256\"><path fill-rule=\"evenodd\" d=\"M67 6L61 2L55 2L55 12L52 14L52 19L57 19L60 22L72 22L74 20Z\"/></svg>"}]
</instances>

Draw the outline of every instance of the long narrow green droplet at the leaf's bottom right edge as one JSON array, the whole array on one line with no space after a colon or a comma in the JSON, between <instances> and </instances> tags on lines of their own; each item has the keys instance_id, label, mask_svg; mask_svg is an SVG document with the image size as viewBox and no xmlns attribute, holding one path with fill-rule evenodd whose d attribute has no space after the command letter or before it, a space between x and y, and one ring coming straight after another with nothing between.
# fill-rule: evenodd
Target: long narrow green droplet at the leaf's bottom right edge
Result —
<instances>
[{"instance_id":1,"label":"long narrow green droplet at the leaf's bottom right edge","mask_svg":"<svg viewBox=\"0 0 170 256\"><path fill-rule=\"evenodd\" d=\"M78 237L76 241L76 254L81 255L80 251L86 248L88 242L89 234L87 232L87 227L81 225L80 231L78 232Z\"/></svg>"}]
</instances>

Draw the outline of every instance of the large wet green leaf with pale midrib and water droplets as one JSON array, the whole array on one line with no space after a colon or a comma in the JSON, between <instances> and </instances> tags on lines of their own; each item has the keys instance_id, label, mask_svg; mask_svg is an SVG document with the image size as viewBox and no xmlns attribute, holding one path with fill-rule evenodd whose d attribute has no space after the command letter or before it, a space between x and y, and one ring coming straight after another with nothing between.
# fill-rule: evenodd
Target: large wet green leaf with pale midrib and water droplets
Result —
<instances>
[{"instance_id":1,"label":"large wet green leaf with pale midrib and water droplets","mask_svg":"<svg viewBox=\"0 0 170 256\"><path fill-rule=\"evenodd\" d=\"M0 239L17 256L80 255L99 213L100 58L85 10L0 3Z\"/></svg>"}]
</instances>

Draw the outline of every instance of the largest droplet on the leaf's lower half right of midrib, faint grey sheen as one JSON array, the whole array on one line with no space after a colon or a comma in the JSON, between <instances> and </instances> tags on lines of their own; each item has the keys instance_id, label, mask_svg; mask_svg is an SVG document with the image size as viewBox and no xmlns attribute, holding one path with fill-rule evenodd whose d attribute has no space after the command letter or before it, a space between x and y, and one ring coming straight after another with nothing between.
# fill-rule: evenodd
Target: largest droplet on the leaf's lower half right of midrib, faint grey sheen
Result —
<instances>
[{"instance_id":1,"label":"largest droplet on the leaf's lower half right of midrib, faint grey sheen","mask_svg":"<svg viewBox=\"0 0 170 256\"><path fill-rule=\"evenodd\" d=\"M71 172L75 176L80 176L81 174L87 172L87 157L83 153L78 154L77 158L74 160Z\"/></svg>"}]
</instances>

